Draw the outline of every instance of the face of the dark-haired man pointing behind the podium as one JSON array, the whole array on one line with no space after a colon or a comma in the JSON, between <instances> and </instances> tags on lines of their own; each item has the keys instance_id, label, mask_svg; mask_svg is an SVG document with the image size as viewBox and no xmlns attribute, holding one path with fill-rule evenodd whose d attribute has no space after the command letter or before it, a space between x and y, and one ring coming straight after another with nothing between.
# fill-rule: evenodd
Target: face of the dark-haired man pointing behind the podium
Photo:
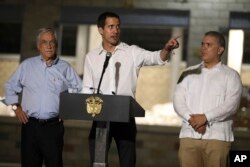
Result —
<instances>
[{"instance_id":1,"label":"face of the dark-haired man pointing behind the podium","mask_svg":"<svg viewBox=\"0 0 250 167\"><path fill-rule=\"evenodd\" d=\"M98 28L103 43L116 46L120 41L120 21L115 17L107 17L104 28Z\"/></svg>"}]
</instances>

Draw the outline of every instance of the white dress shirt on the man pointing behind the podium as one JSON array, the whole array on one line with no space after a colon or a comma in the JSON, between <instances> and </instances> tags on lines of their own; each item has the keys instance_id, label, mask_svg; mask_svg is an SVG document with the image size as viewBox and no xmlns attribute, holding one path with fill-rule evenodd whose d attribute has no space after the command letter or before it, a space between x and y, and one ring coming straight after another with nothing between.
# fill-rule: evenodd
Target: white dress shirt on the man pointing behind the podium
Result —
<instances>
[{"instance_id":1,"label":"white dress shirt on the man pointing behind the podium","mask_svg":"<svg viewBox=\"0 0 250 167\"><path fill-rule=\"evenodd\" d=\"M107 51L100 46L86 55L83 93L96 93ZM142 66L163 65L160 51L147 51L135 45L120 42L115 48L104 73L101 94L134 97L139 70Z\"/></svg>"}]
</instances>

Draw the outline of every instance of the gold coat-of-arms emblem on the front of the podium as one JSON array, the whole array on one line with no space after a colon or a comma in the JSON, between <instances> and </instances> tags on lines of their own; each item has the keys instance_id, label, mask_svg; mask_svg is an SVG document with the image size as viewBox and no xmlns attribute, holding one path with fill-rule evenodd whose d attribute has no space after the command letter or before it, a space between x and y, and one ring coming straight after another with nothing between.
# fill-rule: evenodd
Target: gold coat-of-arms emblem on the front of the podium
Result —
<instances>
[{"instance_id":1,"label":"gold coat-of-arms emblem on the front of the podium","mask_svg":"<svg viewBox=\"0 0 250 167\"><path fill-rule=\"evenodd\" d=\"M91 114L92 117L100 114L103 105L103 100L100 97L90 96L85 101L88 114Z\"/></svg>"}]
</instances>

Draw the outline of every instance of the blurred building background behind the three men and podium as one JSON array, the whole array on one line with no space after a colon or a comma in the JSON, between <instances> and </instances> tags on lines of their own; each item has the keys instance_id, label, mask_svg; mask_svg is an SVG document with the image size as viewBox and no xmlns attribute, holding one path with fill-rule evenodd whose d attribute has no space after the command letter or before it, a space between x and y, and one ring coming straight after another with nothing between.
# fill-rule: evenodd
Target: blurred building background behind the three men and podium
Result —
<instances>
[{"instance_id":1,"label":"blurred building background behind the three men and podium","mask_svg":"<svg viewBox=\"0 0 250 167\"><path fill-rule=\"evenodd\" d=\"M181 71L200 62L203 34L211 30L224 34L223 62L239 72L243 83L232 149L250 150L249 0L0 0L0 100L5 96L4 83L20 62L38 54L35 40L41 27L57 30L60 57L82 76L85 54L100 45L96 20L104 11L120 15L121 40L128 44L154 51L181 35L170 63L140 70L136 100L146 116L136 119L138 167L179 166L181 121L173 110L172 95ZM89 165L90 125L65 121L64 166ZM20 123L2 102L0 147L0 166L20 166ZM114 145L109 162L111 167L119 166Z\"/></svg>"}]
</instances>

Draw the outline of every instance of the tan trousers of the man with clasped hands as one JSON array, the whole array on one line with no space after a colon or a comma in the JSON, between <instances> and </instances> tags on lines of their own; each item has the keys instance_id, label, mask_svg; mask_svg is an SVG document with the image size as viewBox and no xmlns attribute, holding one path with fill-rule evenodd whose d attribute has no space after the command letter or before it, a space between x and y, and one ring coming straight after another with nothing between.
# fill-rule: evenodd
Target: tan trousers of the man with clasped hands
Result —
<instances>
[{"instance_id":1,"label":"tan trousers of the man with clasped hands","mask_svg":"<svg viewBox=\"0 0 250 167\"><path fill-rule=\"evenodd\" d=\"M181 167L227 167L231 142L208 139L180 139Z\"/></svg>"}]
</instances>

